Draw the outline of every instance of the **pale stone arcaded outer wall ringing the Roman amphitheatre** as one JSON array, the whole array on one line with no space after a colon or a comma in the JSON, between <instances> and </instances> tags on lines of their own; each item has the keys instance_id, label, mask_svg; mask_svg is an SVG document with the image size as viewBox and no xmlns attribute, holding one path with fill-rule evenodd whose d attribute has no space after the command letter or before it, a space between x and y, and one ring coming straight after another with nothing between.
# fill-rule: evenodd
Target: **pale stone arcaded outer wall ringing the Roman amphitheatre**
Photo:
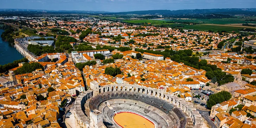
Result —
<instances>
[{"instance_id":1,"label":"pale stone arcaded outer wall ringing the Roman amphitheatre","mask_svg":"<svg viewBox=\"0 0 256 128\"><path fill-rule=\"evenodd\" d=\"M94 88L94 90L87 90L84 93L78 95L75 101L75 118L77 120L78 128L90 128L90 119L84 114L84 106L89 106L87 100L90 98L109 91L136 91L139 93L153 95L162 100L168 101L170 104L173 104L174 107L180 108L187 117L191 118L193 121L194 128L201 128L203 126L203 120L196 108L193 107L193 104L186 102L184 99L171 94L166 93L166 88L160 87L159 89L143 87L139 85L131 84L109 84L103 87Z\"/></svg>"}]
</instances>

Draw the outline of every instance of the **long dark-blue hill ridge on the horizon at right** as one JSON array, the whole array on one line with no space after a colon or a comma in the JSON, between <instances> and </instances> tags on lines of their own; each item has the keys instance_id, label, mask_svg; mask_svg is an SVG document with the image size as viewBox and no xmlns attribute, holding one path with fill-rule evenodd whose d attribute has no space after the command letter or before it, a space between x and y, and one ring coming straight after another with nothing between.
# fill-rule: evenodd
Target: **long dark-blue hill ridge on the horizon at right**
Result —
<instances>
[{"instance_id":1,"label":"long dark-blue hill ridge on the horizon at right","mask_svg":"<svg viewBox=\"0 0 256 128\"><path fill-rule=\"evenodd\" d=\"M256 8L225 8L225 9L186 9L186 10L148 10L148 11L131 11L131 12L117 12L114 14L167 14L167 15L180 15L180 14L256 14Z\"/></svg>"}]
</instances>

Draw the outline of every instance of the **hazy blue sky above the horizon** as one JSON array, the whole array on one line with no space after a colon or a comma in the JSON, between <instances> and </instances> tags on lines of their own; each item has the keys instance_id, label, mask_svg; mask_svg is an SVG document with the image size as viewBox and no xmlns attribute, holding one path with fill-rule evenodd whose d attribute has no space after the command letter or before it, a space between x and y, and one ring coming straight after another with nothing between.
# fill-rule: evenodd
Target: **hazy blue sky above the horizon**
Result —
<instances>
[{"instance_id":1,"label":"hazy blue sky above the horizon","mask_svg":"<svg viewBox=\"0 0 256 128\"><path fill-rule=\"evenodd\" d=\"M140 11L155 9L255 8L256 0L0 0L0 8Z\"/></svg>"}]
</instances>

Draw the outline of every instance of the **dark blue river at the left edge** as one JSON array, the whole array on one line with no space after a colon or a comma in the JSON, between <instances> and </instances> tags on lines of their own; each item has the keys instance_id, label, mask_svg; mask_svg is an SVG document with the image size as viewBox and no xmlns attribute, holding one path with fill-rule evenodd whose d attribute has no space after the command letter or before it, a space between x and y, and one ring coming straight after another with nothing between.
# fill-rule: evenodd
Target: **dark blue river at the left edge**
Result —
<instances>
[{"instance_id":1,"label":"dark blue river at the left edge","mask_svg":"<svg viewBox=\"0 0 256 128\"><path fill-rule=\"evenodd\" d=\"M4 30L0 29L0 35ZM7 41L0 37L0 65L12 63L14 60L22 59L23 56Z\"/></svg>"}]
</instances>

